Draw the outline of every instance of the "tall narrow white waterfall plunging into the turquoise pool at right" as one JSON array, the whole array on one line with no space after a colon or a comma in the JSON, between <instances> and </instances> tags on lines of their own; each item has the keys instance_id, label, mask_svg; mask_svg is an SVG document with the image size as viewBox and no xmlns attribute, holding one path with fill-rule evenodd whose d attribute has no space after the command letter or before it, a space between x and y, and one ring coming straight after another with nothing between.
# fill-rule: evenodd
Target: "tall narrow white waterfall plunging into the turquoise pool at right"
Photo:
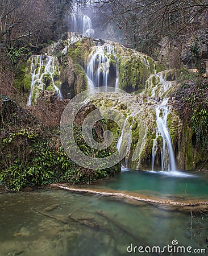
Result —
<instances>
[{"instance_id":1,"label":"tall narrow white waterfall plunging into the turquoise pool at right","mask_svg":"<svg viewBox=\"0 0 208 256\"><path fill-rule=\"evenodd\" d=\"M167 104L168 98L164 98L161 104L157 102L157 105L155 106L157 129L156 138L153 141L152 147L152 170L154 169L154 162L157 151L157 137L159 137L159 135L163 138L163 150L161 151L161 170L177 170L172 142L167 127L167 118L169 113L169 108Z\"/></svg>"}]
</instances>

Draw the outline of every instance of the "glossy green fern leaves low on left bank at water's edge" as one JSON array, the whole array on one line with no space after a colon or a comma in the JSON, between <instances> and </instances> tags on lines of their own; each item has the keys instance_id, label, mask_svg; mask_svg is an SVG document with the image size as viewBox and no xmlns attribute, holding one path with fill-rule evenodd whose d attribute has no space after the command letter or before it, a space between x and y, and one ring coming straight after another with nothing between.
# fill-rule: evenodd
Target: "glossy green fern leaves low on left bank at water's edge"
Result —
<instances>
[{"instance_id":1,"label":"glossy green fern leaves low on left bank at water's edge","mask_svg":"<svg viewBox=\"0 0 208 256\"><path fill-rule=\"evenodd\" d=\"M66 155L63 147L55 149L52 138L60 138L59 134L51 132L53 136L48 138L22 129L16 133L10 133L2 140L2 143L0 142L0 149L5 153L1 156L2 171L0 171L0 183L3 187L18 191L23 187L57 182L90 183L119 172L119 164L106 170L103 170L102 166L99 170L78 167ZM74 126L74 133L78 145L85 154L97 158L113 154L111 150L90 150L84 142L81 127ZM93 136L98 141L101 139L95 131L93 131Z\"/></svg>"}]
</instances>

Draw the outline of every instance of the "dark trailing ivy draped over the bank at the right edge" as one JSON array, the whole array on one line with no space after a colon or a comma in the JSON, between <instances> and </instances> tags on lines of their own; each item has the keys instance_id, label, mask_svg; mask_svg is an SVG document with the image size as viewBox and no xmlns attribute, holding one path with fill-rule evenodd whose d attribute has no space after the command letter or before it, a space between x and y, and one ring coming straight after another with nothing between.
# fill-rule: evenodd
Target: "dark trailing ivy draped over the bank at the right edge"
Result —
<instances>
[{"instance_id":1,"label":"dark trailing ivy draped over the bank at the right edge","mask_svg":"<svg viewBox=\"0 0 208 256\"><path fill-rule=\"evenodd\" d=\"M192 146L208 152L208 79L190 75L184 70L181 86L172 94L174 107L193 129Z\"/></svg>"}]
</instances>

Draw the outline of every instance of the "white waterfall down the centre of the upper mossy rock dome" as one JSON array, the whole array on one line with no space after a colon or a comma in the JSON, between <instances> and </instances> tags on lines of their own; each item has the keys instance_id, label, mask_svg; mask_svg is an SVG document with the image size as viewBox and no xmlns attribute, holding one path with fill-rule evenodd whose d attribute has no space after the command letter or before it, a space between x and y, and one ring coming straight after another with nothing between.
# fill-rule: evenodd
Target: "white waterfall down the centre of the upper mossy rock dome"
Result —
<instances>
[{"instance_id":1,"label":"white waterfall down the centre of the upper mossy rock dome","mask_svg":"<svg viewBox=\"0 0 208 256\"><path fill-rule=\"evenodd\" d=\"M109 80L115 80L113 86L118 89L119 68L115 47L111 44L93 47L86 68L89 88L109 86Z\"/></svg>"}]
</instances>

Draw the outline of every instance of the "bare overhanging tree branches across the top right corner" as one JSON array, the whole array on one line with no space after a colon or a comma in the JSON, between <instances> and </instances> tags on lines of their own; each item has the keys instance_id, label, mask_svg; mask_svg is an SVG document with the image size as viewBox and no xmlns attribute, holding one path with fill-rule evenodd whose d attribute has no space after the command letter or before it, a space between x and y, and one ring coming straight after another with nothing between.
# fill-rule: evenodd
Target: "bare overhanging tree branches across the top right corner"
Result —
<instances>
[{"instance_id":1,"label":"bare overhanging tree branches across the top right corner","mask_svg":"<svg viewBox=\"0 0 208 256\"><path fill-rule=\"evenodd\" d=\"M207 28L207 0L99 0L92 1L131 47L152 46L164 36L176 39Z\"/></svg>"}]
</instances>

